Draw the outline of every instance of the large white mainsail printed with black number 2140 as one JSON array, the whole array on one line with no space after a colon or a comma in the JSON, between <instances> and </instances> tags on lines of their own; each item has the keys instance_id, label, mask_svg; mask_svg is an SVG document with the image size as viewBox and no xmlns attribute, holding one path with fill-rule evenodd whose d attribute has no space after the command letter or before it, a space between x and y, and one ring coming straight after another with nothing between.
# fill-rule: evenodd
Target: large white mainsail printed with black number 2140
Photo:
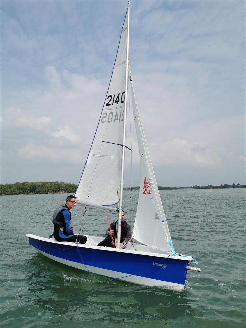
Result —
<instances>
[{"instance_id":1,"label":"large white mainsail printed with black number 2140","mask_svg":"<svg viewBox=\"0 0 246 328\"><path fill-rule=\"evenodd\" d=\"M77 191L79 201L113 205L119 201L128 11L122 27L109 89Z\"/></svg>"}]
</instances>

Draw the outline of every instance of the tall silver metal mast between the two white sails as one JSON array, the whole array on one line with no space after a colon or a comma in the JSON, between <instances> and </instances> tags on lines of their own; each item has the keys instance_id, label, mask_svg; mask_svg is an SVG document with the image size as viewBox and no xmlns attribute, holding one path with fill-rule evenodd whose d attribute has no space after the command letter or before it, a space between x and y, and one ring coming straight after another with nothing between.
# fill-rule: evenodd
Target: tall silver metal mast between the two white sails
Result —
<instances>
[{"instance_id":1,"label":"tall silver metal mast between the two white sails","mask_svg":"<svg viewBox=\"0 0 246 328\"><path fill-rule=\"evenodd\" d=\"M124 127L122 141L122 160L121 160L121 175L120 175L120 195L119 195L119 220L117 234L117 248L120 248L120 233L121 233L121 215L122 215L122 199L123 199L123 180L124 180L124 165L125 165L125 144L126 144L126 110L127 110L127 88L128 88L128 57L129 57L129 22L130 22L130 1L128 1L128 20L127 20L127 46L126 46L126 82L125 82L125 103L124 103Z\"/></svg>"}]
</instances>

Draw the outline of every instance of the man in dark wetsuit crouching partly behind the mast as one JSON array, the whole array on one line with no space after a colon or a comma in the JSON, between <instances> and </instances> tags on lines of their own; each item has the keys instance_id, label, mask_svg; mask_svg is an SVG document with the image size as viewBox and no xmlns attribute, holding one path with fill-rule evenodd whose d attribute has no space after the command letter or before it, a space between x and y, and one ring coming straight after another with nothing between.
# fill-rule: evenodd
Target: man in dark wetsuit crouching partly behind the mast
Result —
<instances>
[{"instance_id":1,"label":"man in dark wetsuit crouching partly behind the mast","mask_svg":"<svg viewBox=\"0 0 246 328\"><path fill-rule=\"evenodd\" d=\"M115 245L115 237L117 235L118 220L110 224L110 228L106 230L107 237L101 241L97 246L113 247ZM113 240L112 240L113 235ZM124 246L131 238L131 227L125 221L125 212L121 215L121 233L120 233L120 247Z\"/></svg>"}]
</instances>

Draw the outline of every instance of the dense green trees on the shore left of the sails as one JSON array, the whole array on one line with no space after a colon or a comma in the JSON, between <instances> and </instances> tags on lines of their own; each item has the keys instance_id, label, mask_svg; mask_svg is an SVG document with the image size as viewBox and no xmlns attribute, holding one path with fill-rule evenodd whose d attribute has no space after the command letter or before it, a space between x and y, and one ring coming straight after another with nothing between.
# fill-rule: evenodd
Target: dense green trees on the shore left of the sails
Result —
<instances>
[{"instance_id":1,"label":"dense green trees on the shore left of the sails","mask_svg":"<svg viewBox=\"0 0 246 328\"><path fill-rule=\"evenodd\" d=\"M16 182L0 184L0 195L30 195L30 194L52 194L52 193L75 193L77 185L55 182Z\"/></svg>"}]
</instances>

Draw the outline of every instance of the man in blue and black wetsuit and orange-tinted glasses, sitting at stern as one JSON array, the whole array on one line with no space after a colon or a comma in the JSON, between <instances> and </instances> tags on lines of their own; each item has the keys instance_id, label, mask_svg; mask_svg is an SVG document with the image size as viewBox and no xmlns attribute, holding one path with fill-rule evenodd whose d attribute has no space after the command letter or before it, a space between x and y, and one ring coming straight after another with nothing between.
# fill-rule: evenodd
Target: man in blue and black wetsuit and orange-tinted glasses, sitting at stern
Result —
<instances>
[{"instance_id":1,"label":"man in blue and black wetsuit and orange-tinted glasses, sitting at stern","mask_svg":"<svg viewBox=\"0 0 246 328\"><path fill-rule=\"evenodd\" d=\"M80 244L85 244L87 241L86 236L74 235L73 226L70 224L72 218L70 210L76 206L76 198L73 195L67 196L66 204L58 206L54 211L53 235L57 241L75 242L77 239Z\"/></svg>"}]
</instances>

